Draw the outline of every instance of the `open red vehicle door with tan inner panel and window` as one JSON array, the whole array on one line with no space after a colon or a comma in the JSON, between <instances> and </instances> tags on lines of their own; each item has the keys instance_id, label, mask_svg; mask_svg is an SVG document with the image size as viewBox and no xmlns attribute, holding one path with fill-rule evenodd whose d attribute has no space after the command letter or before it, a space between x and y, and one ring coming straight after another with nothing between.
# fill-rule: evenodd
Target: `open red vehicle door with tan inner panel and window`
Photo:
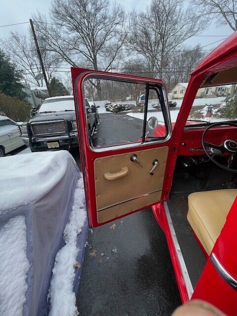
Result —
<instances>
[{"instance_id":1,"label":"open red vehicle door with tan inner panel and window","mask_svg":"<svg viewBox=\"0 0 237 316\"><path fill-rule=\"evenodd\" d=\"M172 138L164 83L79 68L72 78L90 225L160 201Z\"/></svg>"}]
</instances>

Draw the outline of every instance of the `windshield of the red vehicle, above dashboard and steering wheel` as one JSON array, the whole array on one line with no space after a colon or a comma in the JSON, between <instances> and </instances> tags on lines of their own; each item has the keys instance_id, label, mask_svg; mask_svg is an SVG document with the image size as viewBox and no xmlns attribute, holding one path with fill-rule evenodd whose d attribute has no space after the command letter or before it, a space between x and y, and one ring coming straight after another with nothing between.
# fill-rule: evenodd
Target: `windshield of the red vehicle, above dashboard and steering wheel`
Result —
<instances>
[{"instance_id":1,"label":"windshield of the red vehicle, above dashboard and steering wheel","mask_svg":"<svg viewBox=\"0 0 237 316\"><path fill-rule=\"evenodd\" d=\"M237 120L236 89L236 84L199 88L186 125Z\"/></svg>"}]
</instances>

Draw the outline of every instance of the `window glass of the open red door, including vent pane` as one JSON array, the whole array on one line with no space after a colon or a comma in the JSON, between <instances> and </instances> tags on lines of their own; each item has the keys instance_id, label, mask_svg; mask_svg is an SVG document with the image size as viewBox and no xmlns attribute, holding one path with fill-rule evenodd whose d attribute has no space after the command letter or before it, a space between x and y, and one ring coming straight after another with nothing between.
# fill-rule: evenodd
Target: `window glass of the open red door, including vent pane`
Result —
<instances>
[{"instance_id":1,"label":"window glass of the open red door, including vent pane","mask_svg":"<svg viewBox=\"0 0 237 316\"><path fill-rule=\"evenodd\" d=\"M91 147L167 139L169 114L161 85L89 77L84 80L83 93L84 106L93 101L98 110L94 117L86 114Z\"/></svg>"}]
</instances>

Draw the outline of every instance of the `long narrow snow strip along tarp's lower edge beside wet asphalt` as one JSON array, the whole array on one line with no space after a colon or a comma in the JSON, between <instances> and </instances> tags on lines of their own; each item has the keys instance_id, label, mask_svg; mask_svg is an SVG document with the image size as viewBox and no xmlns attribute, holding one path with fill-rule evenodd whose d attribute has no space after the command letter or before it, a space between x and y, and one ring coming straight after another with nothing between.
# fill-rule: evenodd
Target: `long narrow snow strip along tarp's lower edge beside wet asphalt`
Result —
<instances>
[{"instance_id":1,"label":"long narrow snow strip along tarp's lower edge beside wet asphalt","mask_svg":"<svg viewBox=\"0 0 237 316\"><path fill-rule=\"evenodd\" d=\"M77 253L77 236L81 232L86 219L84 208L84 189L82 178L74 194L74 204L69 222L64 230L65 246L59 250L55 258L53 275L49 289L51 301L49 316L76 316L76 295L73 292Z\"/></svg>"}]
</instances>

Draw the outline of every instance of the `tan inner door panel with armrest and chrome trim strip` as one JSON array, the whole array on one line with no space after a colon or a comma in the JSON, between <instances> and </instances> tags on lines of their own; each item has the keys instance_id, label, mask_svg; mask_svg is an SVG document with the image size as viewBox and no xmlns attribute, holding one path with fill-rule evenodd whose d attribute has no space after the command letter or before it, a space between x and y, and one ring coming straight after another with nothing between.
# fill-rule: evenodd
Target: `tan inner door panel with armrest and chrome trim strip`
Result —
<instances>
[{"instance_id":1,"label":"tan inner door panel with armrest and chrome trim strip","mask_svg":"<svg viewBox=\"0 0 237 316\"><path fill-rule=\"evenodd\" d=\"M131 156L136 154L142 167ZM99 223L156 203L161 196L168 147L97 158L94 161ZM153 161L158 160L154 175Z\"/></svg>"}]
</instances>

